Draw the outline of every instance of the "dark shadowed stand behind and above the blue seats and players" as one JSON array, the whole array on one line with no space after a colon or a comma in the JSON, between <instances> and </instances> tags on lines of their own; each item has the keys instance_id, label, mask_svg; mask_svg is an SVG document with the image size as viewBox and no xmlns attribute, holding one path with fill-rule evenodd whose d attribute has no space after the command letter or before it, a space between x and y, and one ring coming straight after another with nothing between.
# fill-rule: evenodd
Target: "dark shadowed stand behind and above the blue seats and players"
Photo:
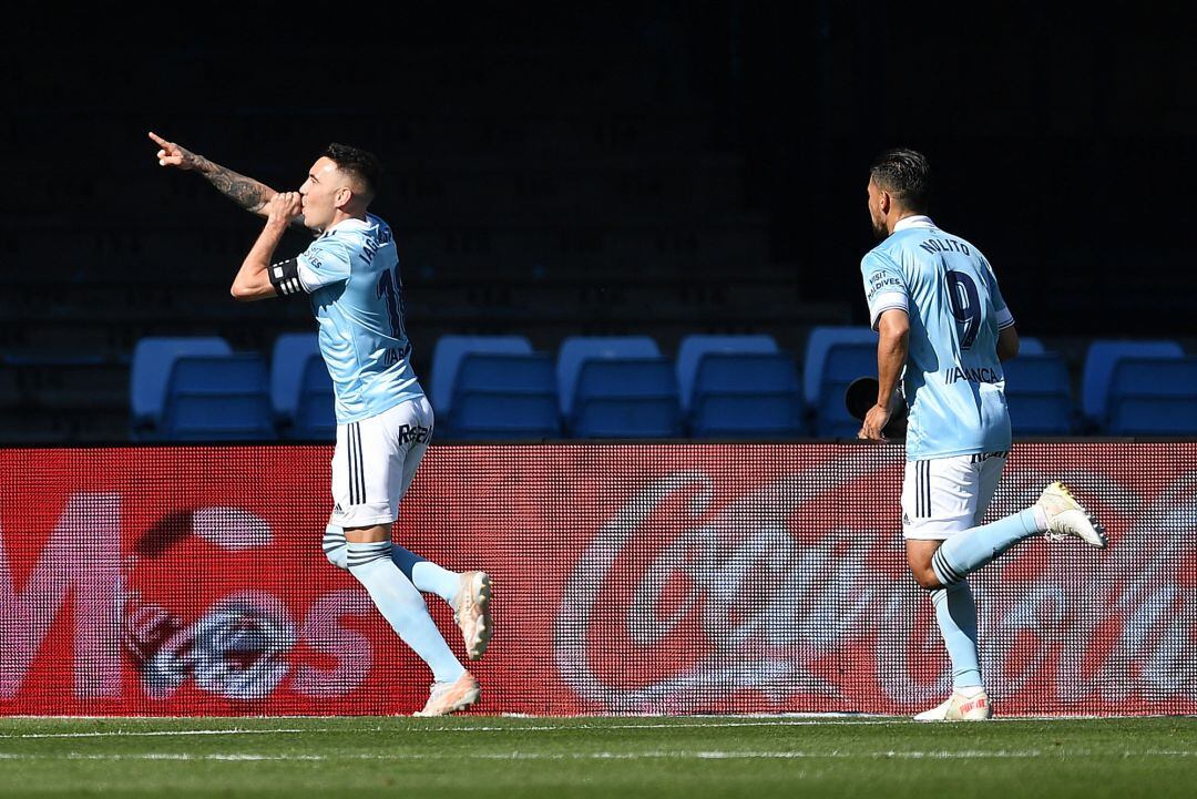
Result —
<instances>
[{"instance_id":1,"label":"dark shadowed stand behind and above the blue seats and players","mask_svg":"<svg viewBox=\"0 0 1197 799\"><path fill-rule=\"evenodd\" d=\"M150 334L268 350L306 305L227 297L259 224L157 166L154 129L274 188L328 141L388 165L427 373L445 333L770 333L863 323L871 158L924 151L932 215L1023 335L1195 349L1192 20L648 0L444 8L8 6L0 439L119 439ZM284 250L305 245L302 234Z\"/></svg>"}]
</instances>

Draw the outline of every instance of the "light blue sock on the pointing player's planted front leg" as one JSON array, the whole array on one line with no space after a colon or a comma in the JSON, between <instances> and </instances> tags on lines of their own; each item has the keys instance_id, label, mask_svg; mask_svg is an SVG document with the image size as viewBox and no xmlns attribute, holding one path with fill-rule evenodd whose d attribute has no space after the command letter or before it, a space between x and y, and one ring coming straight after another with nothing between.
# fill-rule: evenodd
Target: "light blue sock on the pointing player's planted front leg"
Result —
<instances>
[{"instance_id":1,"label":"light blue sock on the pointing player's planted front leg","mask_svg":"<svg viewBox=\"0 0 1197 799\"><path fill-rule=\"evenodd\" d=\"M451 683L466 673L466 667L454 655L440 636L440 630L429 616L424 597L391 561L390 542L379 541L369 544L351 542L347 547L350 573L365 586L378 612L390 623L399 638L429 664L432 678Z\"/></svg>"}]
</instances>

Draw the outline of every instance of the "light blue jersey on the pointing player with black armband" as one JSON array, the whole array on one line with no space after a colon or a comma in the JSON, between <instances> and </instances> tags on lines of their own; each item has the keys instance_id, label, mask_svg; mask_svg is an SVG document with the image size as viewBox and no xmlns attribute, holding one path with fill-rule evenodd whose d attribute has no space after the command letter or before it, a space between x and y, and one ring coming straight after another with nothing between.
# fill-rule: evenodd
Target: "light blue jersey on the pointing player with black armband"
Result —
<instances>
[{"instance_id":1,"label":"light blue jersey on the pointing player with black armband","mask_svg":"<svg viewBox=\"0 0 1197 799\"><path fill-rule=\"evenodd\" d=\"M387 222L372 214L341 221L296 261L320 324L336 422L361 421L423 396L408 360L403 285Z\"/></svg>"}]
</instances>

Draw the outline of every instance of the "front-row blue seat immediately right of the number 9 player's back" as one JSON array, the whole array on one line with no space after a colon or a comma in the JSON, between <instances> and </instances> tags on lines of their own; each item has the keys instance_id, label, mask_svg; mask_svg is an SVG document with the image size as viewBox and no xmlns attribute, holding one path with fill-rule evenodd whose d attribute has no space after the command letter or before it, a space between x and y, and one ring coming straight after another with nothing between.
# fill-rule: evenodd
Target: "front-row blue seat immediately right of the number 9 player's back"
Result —
<instances>
[{"instance_id":1,"label":"front-row blue seat immediately right of the number 9 player's back","mask_svg":"<svg viewBox=\"0 0 1197 799\"><path fill-rule=\"evenodd\" d=\"M1002 365L1010 427L1016 435L1068 435L1074 407L1068 366L1057 354L1020 353Z\"/></svg>"}]
</instances>

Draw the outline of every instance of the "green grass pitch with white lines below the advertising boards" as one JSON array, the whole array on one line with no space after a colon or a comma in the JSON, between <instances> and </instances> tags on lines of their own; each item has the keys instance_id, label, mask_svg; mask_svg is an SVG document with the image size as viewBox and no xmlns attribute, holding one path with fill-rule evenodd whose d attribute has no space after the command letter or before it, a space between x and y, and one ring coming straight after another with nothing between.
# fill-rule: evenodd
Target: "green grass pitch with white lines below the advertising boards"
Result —
<instances>
[{"instance_id":1,"label":"green grass pitch with white lines below the advertising boards","mask_svg":"<svg viewBox=\"0 0 1197 799\"><path fill-rule=\"evenodd\" d=\"M1197 795L1197 718L0 719L0 797Z\"/></svg>"}]
</instances>

